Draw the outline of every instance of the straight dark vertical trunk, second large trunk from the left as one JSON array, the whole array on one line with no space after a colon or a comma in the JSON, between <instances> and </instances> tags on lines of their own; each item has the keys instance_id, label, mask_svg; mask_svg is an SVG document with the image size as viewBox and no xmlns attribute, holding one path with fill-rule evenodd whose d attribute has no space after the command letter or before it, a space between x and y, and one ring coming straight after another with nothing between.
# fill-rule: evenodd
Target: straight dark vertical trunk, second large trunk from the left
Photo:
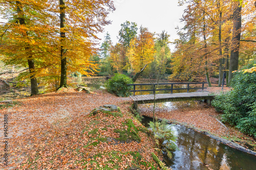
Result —
<instances>
[{"instance_id":1,"label":"straight dark vertical trunk, second large trunk from the left","mask_svg":"<svg viewBox=\"0 0 256 170\"><path fill-rule=\"evenodd\" d=\"M59 0L59 10L60 10L60 84L61 87L67 86L67 58L65 57L65 42L66 42L66 16L65 16L65 0Z\"/></svg>"}]
</instances>

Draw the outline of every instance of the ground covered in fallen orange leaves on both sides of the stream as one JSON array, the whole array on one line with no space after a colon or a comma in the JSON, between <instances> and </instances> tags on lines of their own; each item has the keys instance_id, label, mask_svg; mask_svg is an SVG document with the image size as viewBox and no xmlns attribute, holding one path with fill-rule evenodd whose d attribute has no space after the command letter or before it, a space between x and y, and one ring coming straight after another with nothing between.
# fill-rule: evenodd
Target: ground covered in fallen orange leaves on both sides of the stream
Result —
<instances>
[{"instance_id":1,"label":"ground covered in fallen orange leaves on both sides of the stream","mask_svg":"<svg viewBox=\"0 0 256 170\"><path fill-rule=\"evenodd\" d=\"M216 86L208 87L205 91L219 93L231 90L229 87L224 87L222 90L221 87ZM112 165L116 162L118 162L118 167L122 167L119 169L124 169L125 164L136 162L139 158L140 161L142 159L141 162L151 162L151 164L139 164L142 169L146 169L154 164L150 154L155 152L153 149L154 142L151 138L140 133L140 144L133 141L119 144L116 142L102 142L102 145L100 142L102 138L117 137L118 134L113 130L118 127L121 128L122 124L114 124L114 122L110 123L112 125L105 124L105 120L102 119L104 114L99 116L89 115L90 111L99 106L112 104L119 106L123 112L124 118L121 118L119 123L124 122L125 119L131 119L136 127L139 127L139 124L136 123L128 109L131 106L129 98L118 98L105 90L95 90L93 93L87 94L78 92L75 89L69 89L67 91L35 95L29 98L14 100L14 102L16 103L15 106L0 109L1 115L8 115L8 161L10 169L13 167L33 169L35 166L40 168L53 168L55 166L61 167L61 169L69 169L71 167L88 167L90 169L98 166L98 168L102 169L106 165L114 169L115 167ZM200 102L176 103L174 109L171 108L170 110L159 105L156 108L157 117L167 118L171 122L208 132L237 142L244 147L247 147L249 144L251 150L256 150L256 141L250 136L239 132L234 127L223 125L220 122L221 113L216 112L214 107ZM140 107L140 109L142 115L152 117L152 105ZM1 120L1 124L3 123L4 120ZM106 126L104 127L106 131L98 130L96 132L100 137L97 138L97 135L93 136L94 134L92 133L87 138L81 134L83 131L83 134L90 135L88 133L97 124L98 126ZM108 129L108 126L113 125L115 126L113 129ZM101 128L104 129L103 127ZM84 131L84 129L86 130ZM0 139L4 139L3 135L4 129L1 126ZM91 140L93 138L95 140ZM81 139L84 141L81 142ZM90 146L88 147L90 142L96 143L96 145L89 144ZM3 143L2 140L1 143ZM101 143L100 147L97 147L99 143ZM86 155L82 155L79 150L76 150L85 146L87 147L82 149L82 152L86 153ZM102 155L99 157L93 151L96 150L98 153L103 153L104 151L101 147L108 152L113 151L113 153L111 152L111 155L104 155L103 158ZM0 148L0 154L1 163L3 163L4 144ZM136 159L133 160L135 157ZM76 161L81 159L83 162ZM91 164L86 165L86 163ZM133 166L134 164L131 165ZM3 164L0 164L0 167L2 166Z\"/></svg>"}]
</instances>

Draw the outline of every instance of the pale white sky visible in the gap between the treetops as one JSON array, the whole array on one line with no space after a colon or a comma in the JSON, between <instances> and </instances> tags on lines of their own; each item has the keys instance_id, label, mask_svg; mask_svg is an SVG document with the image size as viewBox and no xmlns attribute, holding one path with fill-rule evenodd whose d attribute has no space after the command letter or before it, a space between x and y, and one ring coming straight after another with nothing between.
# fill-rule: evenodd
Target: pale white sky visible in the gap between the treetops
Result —
<instances>
[{"instance_id":1,"label":"pale white sky visible in the gap between the treetops","mask_svg":"<svg viewBox=\"0 0 256 170\"><path fill-rule=\"evenodd\" d=\"M180 18L185 7L179 7L178 0L114 0L114 2L116 10L108 17L112 20L112 24L105 26L105 32L99 34L102 42L106 32L109 32L113 44L116 44L121 23L126 20L136 22L138 28L142 25L156 34L165 30L170 35L170 41L179 38L175 28L183 26ZM173 51L174 45L170 45L170 48Z\"/></svg>"}]
</instances>

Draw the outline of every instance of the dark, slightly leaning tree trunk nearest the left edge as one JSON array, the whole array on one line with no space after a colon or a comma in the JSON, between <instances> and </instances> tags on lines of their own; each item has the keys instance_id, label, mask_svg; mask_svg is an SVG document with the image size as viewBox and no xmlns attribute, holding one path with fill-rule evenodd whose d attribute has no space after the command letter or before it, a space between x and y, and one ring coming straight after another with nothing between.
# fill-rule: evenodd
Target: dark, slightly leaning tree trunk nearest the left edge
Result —
<instances>
[{"instance_id":1,"label":"dark, slightly leaning tree trunk nearest the left edge","mask_svg":"<svg viewBox=\"0 0 256 170\"><path fill-rule=\"evenodd\" d=\"M20 25L26 25L25 22L25 16L22 10L22 3L20 3L20 1L16 1L16 6L17 6L17 13L18 13L18 20L19 20L19 24ZM26 32L25 34L23 34L23 36L28 36L28 32ZM29 65L29 74L30 74L30 85L31 85L31 95L34 94L38 94L39 90L37 87L37 81L35 78L35 64L34 64L34 60L32 58L32 54L31 54L31 47L28 44L26 47L26 53L29 54L28 57L28 65Z\"/></svg>"}]
</instances>

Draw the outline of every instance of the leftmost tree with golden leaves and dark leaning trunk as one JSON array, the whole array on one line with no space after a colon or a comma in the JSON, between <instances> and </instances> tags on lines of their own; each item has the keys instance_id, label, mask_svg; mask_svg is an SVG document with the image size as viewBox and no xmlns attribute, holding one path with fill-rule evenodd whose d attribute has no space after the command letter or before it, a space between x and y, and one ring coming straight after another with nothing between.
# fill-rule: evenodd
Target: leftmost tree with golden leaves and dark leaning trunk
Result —
<instances>
[{"instance_id":1,"label":"leftmost tree with golden leaves and dark leaning trunk","mask_svg":"<svg viewBox=\"0 0 256 170\"><path fill-rule=\"evenodd\" d=\"M40 3L1 1L1 14L7 19L0 26L3 61L24 67L28 65L31 95L39 92L35 59L45 55L43 49L46 47L40 44L45 41L41 36L47 36L49 31L47 19L41 15L44 10Z\"/></svg>"}]
</instances>

